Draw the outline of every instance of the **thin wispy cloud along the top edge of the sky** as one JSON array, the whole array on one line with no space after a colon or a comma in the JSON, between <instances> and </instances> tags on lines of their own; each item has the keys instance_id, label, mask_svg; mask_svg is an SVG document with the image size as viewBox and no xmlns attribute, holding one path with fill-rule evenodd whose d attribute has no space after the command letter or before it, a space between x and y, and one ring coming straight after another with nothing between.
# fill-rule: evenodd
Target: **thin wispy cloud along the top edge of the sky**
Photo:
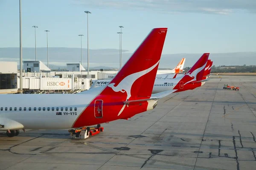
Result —
<instances>
[{"instance_id":1,"label":"thin wispy cloud along the top edge of the sky","mask_svg":"<svg viewBox=\"0 0 256 170\"><path fill-rule=\"evenodd\" d=\"M256 0L72 0L91 8L144 10L169 14L231 14L242 10L256 13Z\"/></svg>"}]
</instances>

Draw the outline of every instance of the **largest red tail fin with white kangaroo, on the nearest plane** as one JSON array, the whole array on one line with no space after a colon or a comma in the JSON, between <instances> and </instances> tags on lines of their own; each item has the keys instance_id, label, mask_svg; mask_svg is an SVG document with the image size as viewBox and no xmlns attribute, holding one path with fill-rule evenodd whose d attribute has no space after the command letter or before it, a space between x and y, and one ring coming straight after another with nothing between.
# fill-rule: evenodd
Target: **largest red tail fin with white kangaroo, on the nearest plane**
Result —
<instances>
[{"instance_id":1,"label":"largest red tail fin with white kangaroo, on the nearest plane","mask_svg":"<svg viewBox=\"0 0 256 170\"><path fill-rule=\"evenodd\" d=\"M167 28L152 29L101 94L125 96L125 101L149 98L166 33Z\"/></svg>"}]
</instances>

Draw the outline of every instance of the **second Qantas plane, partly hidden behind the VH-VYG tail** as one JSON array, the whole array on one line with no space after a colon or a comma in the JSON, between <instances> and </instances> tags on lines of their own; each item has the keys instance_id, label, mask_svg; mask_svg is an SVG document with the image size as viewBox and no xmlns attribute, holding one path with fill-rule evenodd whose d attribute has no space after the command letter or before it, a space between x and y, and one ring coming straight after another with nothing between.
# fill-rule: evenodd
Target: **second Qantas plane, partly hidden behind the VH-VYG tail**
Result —
<instances>
[{"instance_id":1,"label":"second Qantas plane, partly hidden behind the VH-VYG tail","mask_svg":"<svg viewBox=\"0 0 256 170\"><path fill-rule=\"evenodd\" d=\"M174 77L172 79L155 79L152 94L170 90L172 90L174 93L193 90L200 87L202 82L206 82L208 80L206 77L204 77L204 74L207 75L209 73L208 57L209 53L204 53L186 74L181 74L180 76ZM96 80L90 87L89 91L93 88L99 88L101 86L108 85L109 81L110 80L108 79Z\"/></svg>"}]
</instances>

